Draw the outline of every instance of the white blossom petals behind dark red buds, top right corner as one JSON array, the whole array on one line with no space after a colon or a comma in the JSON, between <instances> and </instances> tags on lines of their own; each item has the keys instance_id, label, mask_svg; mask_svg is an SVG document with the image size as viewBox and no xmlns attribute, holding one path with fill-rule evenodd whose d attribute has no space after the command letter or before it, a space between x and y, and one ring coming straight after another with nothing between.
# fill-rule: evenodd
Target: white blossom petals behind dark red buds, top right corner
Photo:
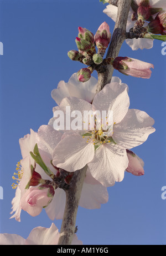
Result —
<instances>
[{"instance_id":1,"label":"white blossom petals behind dark red buds, top right corner","mask_svg":"<svg viewBox=\"0 0 166 256\"><path fill-rule=\"evenodd\" d=\"M135 0L135 2L139 5L141 0ZM151 8L163 8L163 10L166 10L166 1L165 0L149 0L149 4ZM117 17L117 11L118 7L113 6L112 4L108 4L106 9L103 10L105 14L107 14L108 17L112 18L113 21L116 21ZM131 17L133 15L134 11L132 8L129 10L128 14L128 20L127 20L127 26L126 31L128 32L129 29L133 28L136 21L132 21ZM154 14L153 17L157 15ZM143 27L146 27L148 22L144 23ZM137 49L151 49L153 47L153 39L146 39L146 38L134 38L134 39L126 39L126 43L132 48L133 51L136 51Z\"/></svg>"}]
</instances>

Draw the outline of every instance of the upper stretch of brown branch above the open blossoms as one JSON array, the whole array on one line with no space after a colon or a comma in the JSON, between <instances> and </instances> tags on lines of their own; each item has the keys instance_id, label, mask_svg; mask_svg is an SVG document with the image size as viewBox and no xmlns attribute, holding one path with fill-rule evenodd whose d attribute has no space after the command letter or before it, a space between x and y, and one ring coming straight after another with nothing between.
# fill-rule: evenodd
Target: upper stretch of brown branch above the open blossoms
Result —
<instances>
[{"instance_id":1,"label":"upper stretch of brown branch above the open blossoms","mask_svg":"<svg viewBox=\"0 0 166 256\"><path fill-rule=\"evenodd\" d=\"M120 52L121 46L126 39L126 24L130 7L131 0L118 1L118 13L115 28L112 34L112 39L106 58L116 58ZM100 92L107 83L111 82L113 70L114 68L112 65L107 65L105 67L105 72L98 72L98 84L96 93Z\"/></svg>"}]
</instances>

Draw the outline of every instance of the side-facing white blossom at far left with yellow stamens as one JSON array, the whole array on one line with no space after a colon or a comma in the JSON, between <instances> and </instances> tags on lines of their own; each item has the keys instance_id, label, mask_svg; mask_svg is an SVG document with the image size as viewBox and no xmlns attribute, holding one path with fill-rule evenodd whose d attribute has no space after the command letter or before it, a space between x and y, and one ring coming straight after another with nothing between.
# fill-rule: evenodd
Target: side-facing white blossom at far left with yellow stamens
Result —
<instances>
[{"instance_id":1,"label":"side-facing white blossom at far left with yellow stamens","mask_svg":"<svg viewBox=\"0 0 166 256\"><path fill-rule=\"evenodd\" d=\"M34 132L31 129L30 134L27 134L24 136L24 138L19 139L23 159L20 160L19 169L17 169L17 171L21 173L21 175L18 174L18 184L13 186L16 188L16 191L15 197L12 200L11 214L14 214L11 218L15 218L17 221L20 222L20 200L22 199L23 195L27 192L27 189L25 189L25 187L27 186L32 176L30 165L32 164L34 166L34 159L30 156L30 152L33 152L34 146L37 143L40 155L42 156L44 163L46 164L46 166L49 167L49 169L54 174L56 174L57 170L53 167L53 165L51 165L50 160L52 159L51 153L60 141L61 135L61 132L57 132L50 126L41 126L38 130L38 133ZM38 172L43 179L51 180L50 177L44 172L44 170L38 164L35 167L35 171ZM60 198L65 200L65 193L61 193L61 191L59 190L61 189L58 188L55 190L55 195L53 198L54 202L56 202L57 197L59 198L59 193L61 194ZM52 205L52 202L50 204ZM56 208L54 209L54 211L50 210L50 205L48 205L48 207L46 207L45 210L50 219L61 219L63 217L64 205L60 204L58 200L58 202L56 202Z\"/></svg>"}]
</instances>

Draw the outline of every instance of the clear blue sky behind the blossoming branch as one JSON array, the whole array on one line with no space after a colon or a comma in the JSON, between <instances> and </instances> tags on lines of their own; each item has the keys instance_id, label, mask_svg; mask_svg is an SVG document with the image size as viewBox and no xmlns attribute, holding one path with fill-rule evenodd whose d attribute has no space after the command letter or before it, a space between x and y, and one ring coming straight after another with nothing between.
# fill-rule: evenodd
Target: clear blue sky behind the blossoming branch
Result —
<instances>
[{"instance_id":1,"label":"clear blue sky behind the blossoming branch","mask_svg":"<svg viewBox=\"0 0 166 256\"><path fill-rule=\"evenodd\" d=\"M77 28L92 33L106 21L113 32L114 22L102 11L106 6L94 1L0 1L1 165L0 232L28 237L34 227L50 227L45 210L38 217L21 214L21 222L10 218L12 175L21 159L18 140L48 124L55 106L51 91L60 80L83 67L68 58L77 49ZM119 56L154 64L150 79L118 76L129 86L130 108L140 109L155 120L156 132L133 151L144 160L145 174L125 173L122 182L108 188L109 200L101 209L79 208L77 235L84 244L166 244L166 200L161 197L165 175L165 63L162 42L152 49L132 51L123 44ZM97 78L96 72L93 76ZM55 220L60 229L61 220Z\"/></svg>"}]
</instances>

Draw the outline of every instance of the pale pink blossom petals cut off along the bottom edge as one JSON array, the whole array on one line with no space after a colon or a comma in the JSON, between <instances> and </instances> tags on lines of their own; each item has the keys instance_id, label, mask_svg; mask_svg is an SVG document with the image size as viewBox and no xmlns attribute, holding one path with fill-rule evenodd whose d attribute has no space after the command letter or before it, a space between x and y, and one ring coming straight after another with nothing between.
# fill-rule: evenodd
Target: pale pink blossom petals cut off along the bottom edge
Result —
<instances>
[{"instance_id":1,"label":"pale pink blossom petals cut off along the bottom edge","mask_svg":"<svg viewBox=\"0 0 166 256\"><path fill-rule=\"evenodd\" d=\"M0 245L58 245L58 228L52 223L50 228L37 227L32 229L27 239L17 234L0 234ZM74 234L72 245L82 245Z\"/></svg>"}]
</instances>

